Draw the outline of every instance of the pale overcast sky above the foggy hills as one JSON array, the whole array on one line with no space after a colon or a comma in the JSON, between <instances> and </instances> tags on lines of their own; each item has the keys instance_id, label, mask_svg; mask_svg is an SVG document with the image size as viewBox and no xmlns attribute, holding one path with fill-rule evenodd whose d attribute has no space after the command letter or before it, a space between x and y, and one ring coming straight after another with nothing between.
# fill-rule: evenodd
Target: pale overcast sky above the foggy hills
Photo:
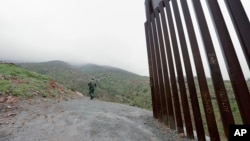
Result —
<instances>
[{"instance_id":1,"label":"pale overcast sky above the foggy hills","mask_svg":"<svg viewBox=\"0 0 250 141\"><path fill-rule=\"evenodd\" d=\"M144 0L0 0L0 60L95 63L148 76L144 11Z\"/></svg>"}]
</instances>

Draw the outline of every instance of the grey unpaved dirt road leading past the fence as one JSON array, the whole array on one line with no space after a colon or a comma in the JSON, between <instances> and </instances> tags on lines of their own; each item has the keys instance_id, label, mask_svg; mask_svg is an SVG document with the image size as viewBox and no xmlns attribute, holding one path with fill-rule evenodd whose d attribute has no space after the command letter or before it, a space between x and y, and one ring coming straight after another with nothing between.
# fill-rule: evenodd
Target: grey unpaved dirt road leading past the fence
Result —
<instances>
[{"instance_id":1,"label":"grey unpaved dirt road leading past the fence","mask_svg":"<svg viewBox=\"0 0 250 141\"><path fill-rule=\"evenodd\" d=\"M151 111L127 105L86 97L18 103L16 115L0 113L0 141L185 140L154 120Z\"/></svg>"}]
</instances>

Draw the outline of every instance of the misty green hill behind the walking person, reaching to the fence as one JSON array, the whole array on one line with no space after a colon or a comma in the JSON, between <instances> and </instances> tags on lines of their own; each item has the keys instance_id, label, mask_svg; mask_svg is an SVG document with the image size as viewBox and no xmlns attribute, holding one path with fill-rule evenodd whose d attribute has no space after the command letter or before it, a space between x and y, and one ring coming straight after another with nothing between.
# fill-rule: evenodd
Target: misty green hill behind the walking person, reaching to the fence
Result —
<instances>
[{"instance_id":1,"label":"misty green hill behind the walking person, reaching to the fence","mask_svg":"<svg viewBox=\"0 0 250 141\"><path fill-rule=\"evenodd\" d=\"M23 68L46 74L71 90L88 95L87 83L97 80L97 98L151 109L149 78L110 66L74 67L62 61L21 63Z\"/></svg>"}]
</instances>

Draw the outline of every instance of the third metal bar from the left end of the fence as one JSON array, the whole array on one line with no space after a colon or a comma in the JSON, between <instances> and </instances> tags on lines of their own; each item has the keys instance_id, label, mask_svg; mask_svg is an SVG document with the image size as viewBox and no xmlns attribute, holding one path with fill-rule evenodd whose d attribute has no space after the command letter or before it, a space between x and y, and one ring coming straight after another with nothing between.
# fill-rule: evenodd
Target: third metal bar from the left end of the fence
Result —
<instances>
[{"instance_id":1,"label":"third metal bar from the left end of the fence","mask_svg":"<svg viewBox=\"0 0 250 141\"><path fill-rule=\"evenodd\" d=\"M158 42L159 40L158 40L157 28L155 24L155 13L151 14L151 21L152 21L153 34L154 34L154 49L153 49L154 51L153 52L155 52L155 57L157 61L157 70L158 70L158 76L159 76L162 117L163 117L163 122L169 125L168 107L166 103L166 91L164 88L164 80L163 80L163 74L162 74L162 62L161 62L161 56L159 52L159 42ZM175 124L170 123L170 128L175 129Z\"/></svg>"}]
</instances>

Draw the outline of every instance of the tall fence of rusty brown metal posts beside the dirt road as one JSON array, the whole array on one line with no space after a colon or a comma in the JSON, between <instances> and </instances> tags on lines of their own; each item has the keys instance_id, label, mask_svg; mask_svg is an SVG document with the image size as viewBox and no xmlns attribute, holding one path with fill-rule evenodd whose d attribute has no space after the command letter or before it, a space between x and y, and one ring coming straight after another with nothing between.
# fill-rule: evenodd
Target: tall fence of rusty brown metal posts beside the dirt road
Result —
<instances>
[{"instance_id":1,"label":"tall fence of rusty brown metal posts beside the dirt road","mask_svg":"<svg viewBox=\"0 0 250 141\"><path fill-rule=\"evenodd\" d=\"M181 57L179 52L179 49L181 49L184 67L187 75L187 85L189 88L188 90L191 98L191 105L198 140L205 140L205 133L194 83L190 56L188 53L186 38L184 34L184 27L180 18L180 9L178 7L177 0L172 0L171 4L174 13L171 13L169 1L170 0L145 0L147 17L147 22L145 23L145 34L147 41L153 114L155 118L165 122L167 125L170 123L172 129L175 129L173 127L175 127L174 119L176 119L178 132L183 131L182 114L180 112L180 103L175 74L176 67L187 136L193 138L193 128L190 118L189 102L187 98L187 91L183 77ZM217 0L205 1L209 6L210 13L214 20L215 29L221 43L220 47L225 58L225 64L227 65L227 70L229 72L242 121L244 124L250 124L249 90L242 72L242 68L239 64L235 48L227 30L227 26L225 24L225 21L223 20L223 15L221 13L219 4ZM236 28L239 41L241 42L242 50L248 63L248 67L250 68L250 40L248 39L248 33L250 32L249 20L239 0L225 1L227 4L227 8L231 12L230 16ZM212 42L211 34L206 22L206 17L203 13L201 2L200 0L193 0L192 2L199 25L199 30L201 31L201 36L204 43L205 53L211 72L212 82L215 90L216 100L220 110L224 132L228 137L229 125L234 124L234 119L229 104L227 91L216 56L215 48ZM189 13L189 6L187 4L187 0L180 0L180 4L186 23L185 28L188 31L187 33L191 44L191 51L194 55L194 64L197 72L199 88L201 90L201 98L205 110L206 121L208 123L210 138L211 140L219 140L220 138L213 112L213 105L211 102L200 50L194 31L194 25ZM164 6L166 8L167 16L165 15ZM155 7L156 9L153 10L153 7ZM175 17L175 19L173 19L173 16ZM175 25L173 20L176 21L177 32L179 36L175 33ZM169 31L167 25L169 26ZM169 36L169 34L171 36ZM179 37L179 42L181 45L180 47L178 47L177 44L177 36ZM170 44L170 38L172 44Z\"/></svg>"}]
</instances>

